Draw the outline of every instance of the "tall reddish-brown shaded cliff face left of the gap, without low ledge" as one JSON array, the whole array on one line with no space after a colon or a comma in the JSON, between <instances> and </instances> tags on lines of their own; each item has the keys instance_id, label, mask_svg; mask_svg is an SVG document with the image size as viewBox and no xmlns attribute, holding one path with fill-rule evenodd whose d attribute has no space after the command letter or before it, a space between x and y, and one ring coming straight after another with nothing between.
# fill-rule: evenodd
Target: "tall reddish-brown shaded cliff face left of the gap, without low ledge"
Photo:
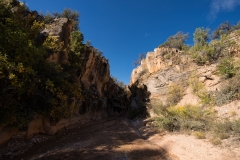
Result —
<instances>
[{"instance_id":1,"label":"tall reddish-brown shaded cliff face left of the gap, without low ledge","mask_svg":"<svg viewBox=\"0 0 240 160\"><path fill-rule=\"evenodd\" d=\"M84 88L85 101L81 113L124 111L128 104L127 95L110 77L108 60L95 53L92 47L85 47L83 67L79 77Z\"/></svg>"}]
</instances>

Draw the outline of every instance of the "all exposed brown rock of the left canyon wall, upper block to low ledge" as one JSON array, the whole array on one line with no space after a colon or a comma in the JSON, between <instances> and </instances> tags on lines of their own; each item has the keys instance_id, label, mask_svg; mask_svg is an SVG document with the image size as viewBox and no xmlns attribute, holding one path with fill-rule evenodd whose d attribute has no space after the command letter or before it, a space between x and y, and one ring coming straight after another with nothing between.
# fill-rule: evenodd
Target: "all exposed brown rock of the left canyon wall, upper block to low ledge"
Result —
<instances>
[{"instance_id":1,"label":"all exposed brown rock of the left canyon wall, upper block to low ledge","mask_svg":"<svg viewBox=\"0 0 240 160\"><path fill-rule=\"evenodd\" d=\"M71 20L59 18L40 32L39 44L49 36L55 37L59 43L64 44L61 51L50 52L47 60L60 64L68 63L71 31ZM91 46L85 46L81 56L82 63L75 79L82 88L84 98L81 100L72 98L70 108L74 108L73 115L69 119L61 119L58 122L52 121L49 117L36 116L25 131L26 139L31 139L39 133L53 135L73 123L81 125L94 119L121 115L127 110L129 97L124 89L110 77L108 60L96 53L96 49ZM17 131L17 128L0 126L0 146L17 134Z\"/></svg>"}]
</instances>

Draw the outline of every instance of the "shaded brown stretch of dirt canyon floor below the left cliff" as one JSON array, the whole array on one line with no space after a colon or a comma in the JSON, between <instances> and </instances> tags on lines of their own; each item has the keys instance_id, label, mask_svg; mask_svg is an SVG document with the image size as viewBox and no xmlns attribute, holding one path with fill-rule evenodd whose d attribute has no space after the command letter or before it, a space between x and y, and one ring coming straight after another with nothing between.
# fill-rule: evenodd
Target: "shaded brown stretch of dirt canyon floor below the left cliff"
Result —
<instances>
[{"instance_id":1,"label":"shaded brown stretch of dirt canyon floor below the left cliff","mask_svg":"<svg viewBox=\"0 0 240 160\"><path fill-rule=\"evenodd\" d=\"M8 158L7 158L8 159ZM143 139L124 118L65 129L12 159L23 160L170 160L156 144Z\"/></svg>"}]
</instances>

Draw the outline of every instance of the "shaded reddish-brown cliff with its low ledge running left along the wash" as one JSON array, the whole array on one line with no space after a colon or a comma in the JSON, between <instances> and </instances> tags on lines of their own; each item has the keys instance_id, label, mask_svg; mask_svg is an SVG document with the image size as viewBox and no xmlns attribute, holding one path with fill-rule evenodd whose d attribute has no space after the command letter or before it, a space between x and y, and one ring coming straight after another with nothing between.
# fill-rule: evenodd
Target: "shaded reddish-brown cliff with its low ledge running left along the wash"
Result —
<instances>
[{"instance_id":1,"label":"shaded reddish-brown cliff with its low ledge running left along the wash","mask_svg":"<svg viewBox=\"0 0 240 160\"><path fill-rule=\"evenodd\" d=\"M60 129L74 123L83 125L91 120L125 113L129 105L129 98L124 89L110 77L108 60L95 53L92 47L84 48L82 58L78 82L82 86L84 99L74 100L74 114L70 118L61 119L58 122L41 115L36 116L28 125L26 139L31 139L39 133L54 135ZM7 142L13 134L8 135L6 137L5 130L0 132L0 138L5 137L0 144Z\"/></svg>"}]
</instances>

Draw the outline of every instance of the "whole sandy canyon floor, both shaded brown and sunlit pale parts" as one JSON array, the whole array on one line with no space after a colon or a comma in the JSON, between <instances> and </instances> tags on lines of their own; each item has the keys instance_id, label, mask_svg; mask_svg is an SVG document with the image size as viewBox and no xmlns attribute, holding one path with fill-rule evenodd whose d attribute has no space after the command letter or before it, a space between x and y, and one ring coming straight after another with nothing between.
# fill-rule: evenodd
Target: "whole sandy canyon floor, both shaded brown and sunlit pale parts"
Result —
<instances>
[{"instance_id":1,"label":"whole sandy canyon floor, both shaded brown and sunlit pale parts","mask_svg":"<svg viewBox=\"0 0 240 160\"><path fill-rule=\"evenodd\" d=\"M74 125L3 160L240 160L240 139L234 140L235 146L214 146L207 139L160 134L143 124L115 117Z\"/></svg>"}]
</instances>

